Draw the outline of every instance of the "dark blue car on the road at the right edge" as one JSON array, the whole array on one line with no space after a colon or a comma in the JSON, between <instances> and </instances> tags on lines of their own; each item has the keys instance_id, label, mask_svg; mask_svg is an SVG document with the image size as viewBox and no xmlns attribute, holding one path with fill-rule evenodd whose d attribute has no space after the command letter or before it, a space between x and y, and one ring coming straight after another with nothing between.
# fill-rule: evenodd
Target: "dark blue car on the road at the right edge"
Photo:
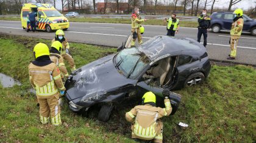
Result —
<instances>
[{"instance_id":1,"label":"dark blue car on the road at the right edge","mask_svg":"<svg viewBox=\"0 0 256 143\"><path fill-rule=\"evenodd\" d=\"M211 28L215 33L220 32L221 30L230 30L235 18L235 14L232 12L215 12L211 18ZM247 15L243 15L244 27L243 32L250 32L251 35L256 36L256 20L249 18Z\"/></svg>"}]
</instances>

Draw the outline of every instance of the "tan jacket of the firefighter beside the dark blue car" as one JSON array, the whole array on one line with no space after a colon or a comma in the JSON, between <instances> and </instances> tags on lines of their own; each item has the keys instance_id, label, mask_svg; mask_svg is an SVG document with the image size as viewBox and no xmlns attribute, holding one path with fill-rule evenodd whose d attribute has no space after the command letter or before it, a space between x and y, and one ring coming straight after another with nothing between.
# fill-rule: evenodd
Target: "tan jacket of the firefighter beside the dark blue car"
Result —
<instances>
[{"instance_id":1,"label":"tan jacket of the firefighter beside the dark blue car","mask_svg":"<svg viewBox=\"0 0 256 143\"><path fill-rule=\"evenodd\" d=\"M233 36L234 39L238 39L241 37L241 33L244 26L243 16L236 17L233 19L232 27L230 30L230 35Z\"/></svg>"}]
</instances>

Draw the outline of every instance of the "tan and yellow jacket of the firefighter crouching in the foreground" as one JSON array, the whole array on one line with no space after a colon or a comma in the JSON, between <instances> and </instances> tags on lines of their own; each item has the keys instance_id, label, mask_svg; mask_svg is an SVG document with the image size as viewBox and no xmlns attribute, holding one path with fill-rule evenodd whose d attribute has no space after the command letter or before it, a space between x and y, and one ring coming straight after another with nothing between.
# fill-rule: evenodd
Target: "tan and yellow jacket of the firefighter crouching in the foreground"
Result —
<instances>
[{"instance_id":1,"label":"tan and yellow jacket of the firefighter crouching in the foreground","mask_svg":"<svg viewBox=\"0 0 256 143\"><path fill-rule=\"evenodd\" d=\"M165 99L165 108L149 104L135 106L126 113L126 120L134 122L133 133L140 139L154 139L157 135L157 119L171 114L172 107L169 99Z\"/></svg>"}]
</instances>

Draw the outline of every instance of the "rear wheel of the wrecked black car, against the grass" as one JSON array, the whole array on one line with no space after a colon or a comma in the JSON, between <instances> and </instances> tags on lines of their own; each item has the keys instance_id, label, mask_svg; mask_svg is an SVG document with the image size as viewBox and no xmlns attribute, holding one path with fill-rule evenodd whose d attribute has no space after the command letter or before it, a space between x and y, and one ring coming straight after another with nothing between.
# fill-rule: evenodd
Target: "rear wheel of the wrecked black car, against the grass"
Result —
<instances>
[{"instance_id":1,"label":"rear wheel of the wrecked black car, against the grass","mask_svg":"<svg viewBox=\"0 0 256 143\"><path fill-rule=\"evenodd\" d=\"M185 87L193 86L204 81L204 74L202 72L196 72L191 74L185 81Z\"/></svg>"}]
</instances>

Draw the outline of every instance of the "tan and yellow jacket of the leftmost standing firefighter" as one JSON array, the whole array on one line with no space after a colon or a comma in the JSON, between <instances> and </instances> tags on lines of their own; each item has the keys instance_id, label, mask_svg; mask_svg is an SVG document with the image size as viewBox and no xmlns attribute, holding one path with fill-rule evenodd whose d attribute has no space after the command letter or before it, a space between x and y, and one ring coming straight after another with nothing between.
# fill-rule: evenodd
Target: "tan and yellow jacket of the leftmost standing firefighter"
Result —
<instances>
[{"instance_id":1,"label":"tan and yellow jacket of the leftmost standing firefighter","mask_svg":"<svg viewBox=\"0 0 256 143\"><path fill-rule=\"evenodd\" d=\"M65 91L60 77L60 70L55 63L37 66L33 62L29 65L29 82L36 91L38 98L47 98Z\"/></svg>"}]
</instances>

